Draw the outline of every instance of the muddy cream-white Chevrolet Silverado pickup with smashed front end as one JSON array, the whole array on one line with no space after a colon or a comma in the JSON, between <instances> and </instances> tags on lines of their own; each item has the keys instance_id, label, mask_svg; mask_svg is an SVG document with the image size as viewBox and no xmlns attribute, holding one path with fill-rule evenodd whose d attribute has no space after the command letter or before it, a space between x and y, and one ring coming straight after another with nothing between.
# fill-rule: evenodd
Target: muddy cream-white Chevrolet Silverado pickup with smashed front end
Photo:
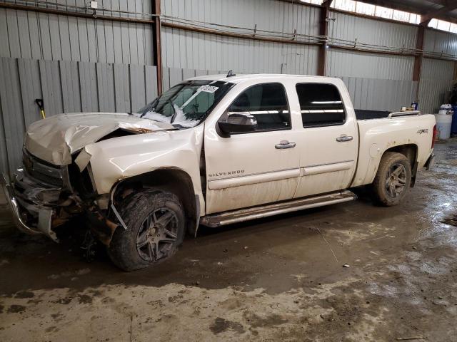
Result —
<instances>
[{"instance_id":1,"label":"muddy cream-white Chevrolet Silverado pickup with smashed front end","mask_svg":"<svg viewBox=\"0 0 457 342\"><path fill-rule=\"evenodd\" d=\"M56 227L84 215L130 271L170 257L199 224L351 201L361 185L398 204L433 162L434 125L419 112L356 113L338 78L203 76L139 113L31 124L4 190L22 231L58 240Z\"/></svg>"}]
</instances>

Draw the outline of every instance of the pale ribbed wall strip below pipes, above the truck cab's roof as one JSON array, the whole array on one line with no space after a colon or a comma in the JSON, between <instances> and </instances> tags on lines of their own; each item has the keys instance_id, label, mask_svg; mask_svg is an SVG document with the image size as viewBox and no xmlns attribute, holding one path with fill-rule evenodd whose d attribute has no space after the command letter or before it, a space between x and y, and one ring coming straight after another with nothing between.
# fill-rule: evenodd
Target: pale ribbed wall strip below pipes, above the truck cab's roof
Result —
<instances>
[{"instance_id":1,"label":"pale ribbed wall strip below pipes, above the truck cab's roof","mask_svg":"<svg viewBox=\"0 0 457 342\"><path fill-rule=\"evenodd\" d=\"M184 38L184 39L183 39ZM318 47L162 28L163 66L237 73L316 75Z\"/></svg>"}]
</instances>

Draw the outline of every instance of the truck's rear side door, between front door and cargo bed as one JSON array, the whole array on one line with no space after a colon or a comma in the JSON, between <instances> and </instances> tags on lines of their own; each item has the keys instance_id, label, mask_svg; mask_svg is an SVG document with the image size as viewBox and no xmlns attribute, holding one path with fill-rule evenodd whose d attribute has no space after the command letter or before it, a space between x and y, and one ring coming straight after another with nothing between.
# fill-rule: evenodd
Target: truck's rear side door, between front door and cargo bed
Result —
<instances>
[{"instance_id":1,"label":"truck's rear side door, between front door and cargo bed","mask_svg":"<svg viewBox=\"0 0 457 342\"><path fill-rule=\"evenodd\" d=\"M348 92L340 88L344 93L333 83L296 84L303 130L295 197L342 190L351 184L358 153L357 121Z\"/></svg>"}]
</instances>

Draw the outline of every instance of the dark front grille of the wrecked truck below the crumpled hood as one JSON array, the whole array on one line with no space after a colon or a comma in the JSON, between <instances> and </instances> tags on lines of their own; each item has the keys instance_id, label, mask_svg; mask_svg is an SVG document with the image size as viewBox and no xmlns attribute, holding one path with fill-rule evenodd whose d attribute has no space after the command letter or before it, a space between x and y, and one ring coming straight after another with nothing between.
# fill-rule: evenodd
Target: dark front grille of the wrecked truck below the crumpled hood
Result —
<instances>
[{"instance_id":1,"label":"dark front grille of the wrecked truck below the crumpled hood","mask_svg":"<svg viewBox=\"0 0 457 342\"><path fill-rule=\"evenodd\" d=\"M30 177L49 185L64 187L64 168L44 162L26 150L23 151L22 163Z\"/></svg>"}]
</instances>

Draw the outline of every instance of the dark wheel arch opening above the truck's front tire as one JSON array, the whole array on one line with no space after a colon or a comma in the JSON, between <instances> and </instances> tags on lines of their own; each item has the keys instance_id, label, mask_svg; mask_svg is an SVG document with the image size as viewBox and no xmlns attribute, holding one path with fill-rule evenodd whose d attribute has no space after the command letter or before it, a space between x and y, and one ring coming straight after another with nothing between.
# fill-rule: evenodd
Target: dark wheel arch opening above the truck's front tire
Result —
<instances>
[{"instance_id":1,"label":"dark wheel arch opening above the truck's front tire","mask_svg":"<svg viewBox=\"0 0 457 342\"><path fill-rule=\"evenodd\" d=\"M154 187L158 191L169 191L176 195L186 213L187 232L196 234L200 219L199 195L195 193L191 176L178 167L162 167L120 180L111 188L110 197L116 204L133 192L148 187Z\"/></svg>"}]
</instances>

